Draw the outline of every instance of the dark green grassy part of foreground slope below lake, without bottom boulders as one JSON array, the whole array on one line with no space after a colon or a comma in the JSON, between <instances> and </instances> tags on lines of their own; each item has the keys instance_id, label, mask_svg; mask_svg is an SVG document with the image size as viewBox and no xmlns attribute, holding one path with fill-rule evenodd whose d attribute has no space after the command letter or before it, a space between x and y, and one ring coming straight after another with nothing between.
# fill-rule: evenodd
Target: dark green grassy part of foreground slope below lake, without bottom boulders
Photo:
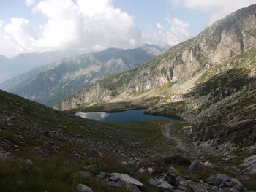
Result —
<instances>
[{"instance_id":1,"label":"dark green grassy part of foreground slope below lake, without bottom boulders","mask_svg":"<svg viewBox=\"0 0 256 192\"><path fill-rule=\"evenodd\" d=\"M0 100L0 147L14 155L7 160L0 155L0 191L76 191L78 183L94 191L125 191L93 177L74 179L72 174L99 162L105 166L91 170L94 175L99 171L135 172L138 167L121 166L121 158L128 161L143 154L178 153L170 151L175 143L162 136L159 123L166 121L101 123L4 91L0 91ZM50 136L45 136L45 131L50 131ZM22 161L27 158L33 164ZM149 176L138 176L148 185ZM155 191L149 186L147 190Z\"/></svg>"}]
</instances>

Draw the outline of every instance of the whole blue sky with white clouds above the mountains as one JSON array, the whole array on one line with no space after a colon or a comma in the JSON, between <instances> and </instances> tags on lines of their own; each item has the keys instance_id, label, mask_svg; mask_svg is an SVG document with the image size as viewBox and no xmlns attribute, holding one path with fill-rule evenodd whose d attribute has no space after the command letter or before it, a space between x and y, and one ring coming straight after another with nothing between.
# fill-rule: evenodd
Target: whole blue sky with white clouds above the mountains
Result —
<instances>
[{"instance_id":1,"label":"whole blue sky with white clouds above the mountains","mask_svg":"<svg viewBox=\"0 0 256 192\"><path fill-rule=\"evenodd\" d=\"M162 47L256 0L0 0L0 55Z\"/></svg>"}]
</instances>

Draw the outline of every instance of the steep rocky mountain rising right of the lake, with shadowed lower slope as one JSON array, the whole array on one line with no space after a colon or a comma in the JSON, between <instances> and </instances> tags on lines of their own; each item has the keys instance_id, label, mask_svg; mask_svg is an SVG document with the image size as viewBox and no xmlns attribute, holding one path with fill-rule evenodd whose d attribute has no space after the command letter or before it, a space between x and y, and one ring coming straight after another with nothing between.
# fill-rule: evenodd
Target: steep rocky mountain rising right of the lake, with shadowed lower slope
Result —
<instances>
[{"instance_id":1,"label":"steep rocky mountain rising right of the lake, with shadowed lower slope","mask_svg":"<svg viewBox=\"0 0 256 192\"><path fill-rule=\"evenodd\" d=\"M178 115L193 123L195 141L255 142L255 26L256 4L227 15L146 64L105 77L56 107L160 97L148 112Z\"/></svg>"}]
</instances>

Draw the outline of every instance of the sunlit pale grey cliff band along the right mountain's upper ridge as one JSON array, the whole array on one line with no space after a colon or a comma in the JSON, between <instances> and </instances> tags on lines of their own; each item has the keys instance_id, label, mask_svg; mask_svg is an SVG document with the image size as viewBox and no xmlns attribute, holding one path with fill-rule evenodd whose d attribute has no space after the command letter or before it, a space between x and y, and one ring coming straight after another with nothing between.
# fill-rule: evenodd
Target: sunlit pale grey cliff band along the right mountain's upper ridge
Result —
<instances>
[{"instance_id":1,"label":"sunlit pale grey cliff band along the right mountain's upper ridge","mask_svg":"<svg viewBox=\"0 0 256 192\"><path fill-rule=\"evenodd\" d=\"M106 77L97 82L97 85L65 99L59 104L59 108L65 110L98 100L110 101L116 96L126 99L127 93L150 90L166 83L177 85L196 75L200 76L206 69L224 64L256 46L255 12L256 5L239 9L218 20L197 37L171 47L148 63ZM185 88L183 92L186 91Z\"/></svg>"}]
</instances>

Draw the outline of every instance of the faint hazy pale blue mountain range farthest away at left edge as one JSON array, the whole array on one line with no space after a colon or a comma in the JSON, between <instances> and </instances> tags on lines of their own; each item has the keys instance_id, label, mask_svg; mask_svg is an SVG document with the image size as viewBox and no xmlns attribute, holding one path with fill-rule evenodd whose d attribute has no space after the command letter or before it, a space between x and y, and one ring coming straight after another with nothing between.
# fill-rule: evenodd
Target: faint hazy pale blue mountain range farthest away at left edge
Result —
<instances>
[{"instance_id":1,"label":"faint hazy pale blue mountain range farthest away at left edge","mask_svg":"<svg viewBox=\"0 0 256 192\"><path fill-rule=\"evenodd\" d=\"M37 66L50 64L62 58L83 54L82 50L49 51L43 53L23 53L15 58L0 57L0 82L4 82L34 69Z\"/></svg>"}]
</instances>

